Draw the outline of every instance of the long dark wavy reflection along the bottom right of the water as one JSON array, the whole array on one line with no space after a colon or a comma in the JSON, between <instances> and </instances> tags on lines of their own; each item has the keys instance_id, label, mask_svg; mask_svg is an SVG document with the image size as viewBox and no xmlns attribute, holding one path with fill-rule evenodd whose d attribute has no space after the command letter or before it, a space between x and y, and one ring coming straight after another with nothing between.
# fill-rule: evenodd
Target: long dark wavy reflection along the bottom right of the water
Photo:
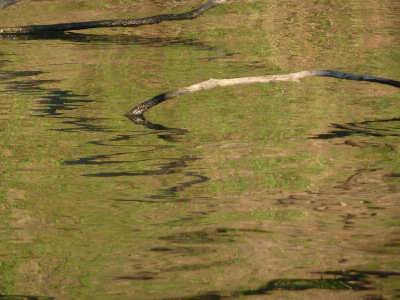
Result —
<instances>
[{"instance_id":1,"label":"long dark wavy reflection along the bottom right of the water","mask_svg":"<svg viewBox=\"0 0 400 300\"><path fill-rule=\"evenodd\" d=\"M238 296L251 296L270 294L274 290L305 290L305 289L330 289L330 290L370 290L375 278L398 277L400 272L386 271L324 271L313 273L318 275L317 279L291 278L275 279L266 284L250 290L239 290L232 292L206 292L195 296L164 298L163 300L218 300L234 298ZM327 277L328 278L324 278ZM365 295L366 298L383 299L381 295ZM370 296L370 297L368 297ZM398 296L398 295L397 295ZM365 297L364 297L365 298Z\"/></svg>"}]
</instances>

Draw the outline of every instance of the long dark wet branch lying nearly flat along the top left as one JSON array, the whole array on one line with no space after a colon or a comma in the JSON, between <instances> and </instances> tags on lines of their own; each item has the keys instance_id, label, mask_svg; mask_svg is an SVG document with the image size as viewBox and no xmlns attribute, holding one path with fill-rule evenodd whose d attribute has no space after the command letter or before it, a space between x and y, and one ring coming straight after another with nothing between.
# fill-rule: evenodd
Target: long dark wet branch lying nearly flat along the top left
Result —
<instances>
[{"instance_id":1,"label":"long dark wet branch lying nearly flat along the top left","mask_svg":"<svg viewBox=\"0 0 400 300\"><path fill-rule=\"evenodd\" d=\"M147 16L136 19L115 19L115 20L97 20L97 21L86 21L86 22L72 22L72 23L59 23L59 24L48 24L48 25L27 25L18 26L11 28L0 28L0 34L15 34L15 33L35 33L43 31L67 31L67 30L81 30L99 27L137 27L141 25L150 25L160 23L162 21L176 21L194 19L204 11L211 9L212 7L222 4L228 0L212 0L196 9L182 12L182 13L171 13L171 14L159 14L153 16Z\"/></svg>"}]
</instances>

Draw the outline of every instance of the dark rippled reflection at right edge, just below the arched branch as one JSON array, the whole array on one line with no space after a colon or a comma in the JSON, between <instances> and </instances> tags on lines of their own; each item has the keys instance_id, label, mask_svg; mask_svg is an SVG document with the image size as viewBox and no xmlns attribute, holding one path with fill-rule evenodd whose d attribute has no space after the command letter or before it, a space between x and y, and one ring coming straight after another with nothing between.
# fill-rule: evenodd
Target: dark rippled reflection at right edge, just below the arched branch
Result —
<instances>
[{"instance_id":1,"label":"dark rippled reflection at right edge, just below the arched branch","mask_svg":"<svg viewBox=\"0 0 400 300\"><path fill-rule=\"evenodd\" d=\"M309 138L329 139L348 137L352 135L363 136L400 136L400 118L377 119L363 122L349 122L344 124L331 124L334 128L328 133L320 133Z\"/></svg>"}]
</instances>

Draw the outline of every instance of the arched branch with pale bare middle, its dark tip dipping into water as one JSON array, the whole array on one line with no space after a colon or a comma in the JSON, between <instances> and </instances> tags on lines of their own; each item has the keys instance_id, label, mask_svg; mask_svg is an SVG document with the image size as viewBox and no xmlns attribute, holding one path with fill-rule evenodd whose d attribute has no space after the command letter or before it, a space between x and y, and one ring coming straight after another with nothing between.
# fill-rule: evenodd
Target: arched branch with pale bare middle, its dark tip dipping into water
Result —
<instances>
[{"instance_id":1,"label":"arched branch with pale bare middle, its dark tip dipping into water","mask_svg":"<svg viewBox=\"0 0 400 300\"><path fill-rule=\"evenodd\" d=\"M282 74L282 75L266 75L266 76L258 76L258 77L239 77L239 78L230 78L230 79L213 79L210 78L206 81L192 84L189 86L185 86L178 89L173 89L167 92L163 92L151 99L148 99L139 105L133 107L131 110L125 113L126 116L141 116L144 111L157 105L167 99L180 96L189 92L209 89L218 86L228 86L228 85L237 85L237 84L251 84L251 83L268 83L268 82L279 82L279 81L295 81L298 82L301 78L306 77L334 77L340 79L348 79L348 80L361 80L361 81L369 81L369 82L378 82L382 84L388 84L395 87L400 87L400 81L386 79L381 77L373 77L366 75L358 75L358 74L350 74L343 73L332 70L307 70L301 71L297 73L290 74Z\"/></svg>"}]
</instances>

